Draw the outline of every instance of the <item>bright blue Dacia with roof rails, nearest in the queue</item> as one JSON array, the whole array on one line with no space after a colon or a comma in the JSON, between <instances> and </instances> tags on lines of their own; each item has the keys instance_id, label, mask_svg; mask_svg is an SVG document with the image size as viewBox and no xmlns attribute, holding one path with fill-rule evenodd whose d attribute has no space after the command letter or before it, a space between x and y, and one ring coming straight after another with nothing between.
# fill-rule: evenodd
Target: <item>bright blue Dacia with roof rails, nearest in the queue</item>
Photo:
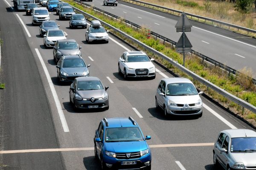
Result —
<instances>
[{"instance_id":1,"label":"bright blue Dacia with roof rails, nearest in the queue","mask_svg":"<svg viewBox=\"0 0 256 170\"><path fill-rule=\"evenodd\" d=\"M129 118L104 118L95 132L94 154L102 170L151 170L151 153L140 126Z\"/></svg>"}]
</instances>

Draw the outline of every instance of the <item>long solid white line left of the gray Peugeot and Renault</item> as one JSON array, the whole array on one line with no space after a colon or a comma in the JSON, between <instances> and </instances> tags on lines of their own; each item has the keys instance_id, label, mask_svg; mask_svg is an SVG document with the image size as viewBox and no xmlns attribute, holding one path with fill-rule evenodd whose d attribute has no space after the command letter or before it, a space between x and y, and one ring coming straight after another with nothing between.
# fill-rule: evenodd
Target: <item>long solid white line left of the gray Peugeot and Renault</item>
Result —
<instances>
[{"instance_id":1,"label":"long solid white line left of the gray Peugeot and Renault","mask_svg":"<svg viewBox=\"0 0 256 170\"><path fill-rule=\"evenodd\" d=\"M42 56L41 56L41 54L40 54L38 48L35 48L35 52L36 52L36 54L38 55L38 58L39 58L39 60L40 60L40 62L41 62L42 67L44 68L44 74L45 74L46 77L47 77L47 81L48 81L49 86L50 86L50 89L51 89L51 91L52 91L52 96L53 96L53 98L54 98L55 105L56 105L56 107L57 107L58 114L59 114L60 119L61 119L61 124L62 124L63 130L64 130L64 132L69 132L69 128L68 128L68 126L67 126L67 121L66 121L65 116L64 116L64 113L63 113L63 111L62 111L61 103L60 103L60 101L59 101L59 99L58 99L58 95L57 95L57 93L56 93L56 91L55 91L55 88L54 88L54 85L53 85L53 83L52 83L52 79L51 79L51 77L50 77L50 74L49 74L49 72L48 72L48 70L47 70L47 67L46 67L46 65L45 65L45 63L44 63L44 60L43 60L43 58L42 58Z\"/></svg>"}]
</instances>

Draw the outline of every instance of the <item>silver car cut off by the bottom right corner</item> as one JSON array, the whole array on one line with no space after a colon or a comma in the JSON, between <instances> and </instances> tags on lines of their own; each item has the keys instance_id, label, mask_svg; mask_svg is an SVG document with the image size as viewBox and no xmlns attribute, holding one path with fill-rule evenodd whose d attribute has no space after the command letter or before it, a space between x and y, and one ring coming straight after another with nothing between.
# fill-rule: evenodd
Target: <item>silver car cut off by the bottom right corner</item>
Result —
<instances>
[{"instance_id":1,"label":"silver car cut off by the bottom right corner","mask_svg":"<svg viewBox=\"0 0 256 170\"><path fill-rule=\"evenodd\" d=\"M213 147L215 169L256 170L256 132L249 129L229 129L218 134Z\"/></svg>"}]
</instances>

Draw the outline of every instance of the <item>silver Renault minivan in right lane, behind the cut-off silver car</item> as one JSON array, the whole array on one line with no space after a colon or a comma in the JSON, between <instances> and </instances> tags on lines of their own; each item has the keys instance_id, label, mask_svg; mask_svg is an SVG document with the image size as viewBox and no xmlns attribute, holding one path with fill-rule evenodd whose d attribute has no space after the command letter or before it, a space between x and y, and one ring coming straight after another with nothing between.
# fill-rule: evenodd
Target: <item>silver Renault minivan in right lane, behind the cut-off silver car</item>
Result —
<instances>
[{"instance_id":1,"label":"silver Renault minivan in right lane, behind the cut-off silver car","mask_svg":"<svg viewBox=\"0 0 256 170\"><path fill-rule=\"evenodd\" d=\"M165 116L202 116L203 103L193 83L186 78L161 79L155 95L156 107L164 110Z\"/></svg>"}]
</instances>

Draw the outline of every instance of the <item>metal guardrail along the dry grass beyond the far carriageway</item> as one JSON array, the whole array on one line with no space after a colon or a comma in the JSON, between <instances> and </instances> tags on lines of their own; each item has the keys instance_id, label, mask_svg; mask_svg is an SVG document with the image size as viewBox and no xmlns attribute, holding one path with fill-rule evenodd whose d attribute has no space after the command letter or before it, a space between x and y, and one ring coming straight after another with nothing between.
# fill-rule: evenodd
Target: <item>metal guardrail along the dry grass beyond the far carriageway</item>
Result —
<instances>
[{"instance_id":1,"label":"metal guardrail along the dry grass beyond the far carriageway","mask_svg":"<svg viewBox=\"0 0 256 170\"><path fill-rule=\"evenodd\" d=\"M120 1L127 2L125 0L120 0ZM136 3L148 5L148 6L153 6L153 7L161 8L163 10L165 9L165 10L167 10L168 13L169 13L169 11L176 12L178 14L181 14L183 12L183 11L179 11L179 10L176 10L176 9L167 8L167 7L164 7L164 6L158 6L158 5L155 5L155 4L152 4L152 3L146 3L146 2L143 2L143 1L140 1L140 0L128 0L128 1L129 2L133 1L133 2L136 2ZM247 31L247 34L249 34L249 32L256 34L256 30L254 30L254 29L237 26L237 25L234 25L234 24L226 23L226 22L219 21L219 20L214 20L214 19L207 18L207 17L202 17L202 16L195 15L195 14L190 14L190 13L187 13L187 12L185 12L185 13L186 13L187 16L190 16L191 19L192 19L192 17L195 17L198 20L199 19L204 20L204 22L207 20L207 21L212 22L212 24L213 23L218 23L218 24L220 24L220 26L221 25L228 26L228 29L230 29L230 27L232 27L232 28L236 28L238 31L239 31L239 29L243 30L243 31Z\"/></svg>"}]
</instances>

